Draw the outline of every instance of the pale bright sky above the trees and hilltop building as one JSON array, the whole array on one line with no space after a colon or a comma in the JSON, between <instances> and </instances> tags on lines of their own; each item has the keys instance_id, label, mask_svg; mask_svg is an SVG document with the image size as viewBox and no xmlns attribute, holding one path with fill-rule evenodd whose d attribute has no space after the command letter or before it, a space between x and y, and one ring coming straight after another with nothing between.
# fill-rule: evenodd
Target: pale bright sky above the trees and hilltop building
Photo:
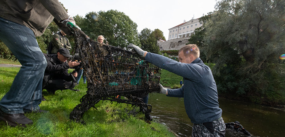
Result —
<instances>
[{"instance_id":1,"label":"pale bright sky above the trees and hilltop building","mask_svg":"<svg viewBox=\"0 0 285 137\"><path fill-rule=\"evenodd\" d=\"M137 23L140 33L144 28L160 29L166 40L168 29L184 20L190 21L207 15L215 10L215 0L59 0L68 9L68 15L85 15L91 11L108 11L110 9L125 13ZM79 26L80 27L80 26Z\"/></svg>"}]
</instances>

